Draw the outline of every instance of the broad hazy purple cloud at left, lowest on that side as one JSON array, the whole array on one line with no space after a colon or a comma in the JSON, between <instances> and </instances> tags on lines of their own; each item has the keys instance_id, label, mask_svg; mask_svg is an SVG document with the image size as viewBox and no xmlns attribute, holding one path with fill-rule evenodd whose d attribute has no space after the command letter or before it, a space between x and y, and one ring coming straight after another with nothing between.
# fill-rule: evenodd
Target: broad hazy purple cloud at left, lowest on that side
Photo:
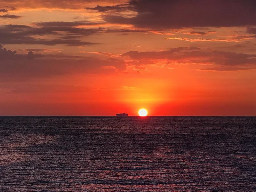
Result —
<instances>
[{"instance_id":1,"label":"broad hazy purple cloud at left, lowest on that side","mask_svg":"<svg viewBox=\"0 0 256 192\"><path fill-rule=\"evenodd\" d=\"M41 55L32 51L21 55L6 49L1 49L0 59L1 82L30 81L65 74L113 73L126 68L125 61L115 58Z\"/></svg>"}]
</instances>

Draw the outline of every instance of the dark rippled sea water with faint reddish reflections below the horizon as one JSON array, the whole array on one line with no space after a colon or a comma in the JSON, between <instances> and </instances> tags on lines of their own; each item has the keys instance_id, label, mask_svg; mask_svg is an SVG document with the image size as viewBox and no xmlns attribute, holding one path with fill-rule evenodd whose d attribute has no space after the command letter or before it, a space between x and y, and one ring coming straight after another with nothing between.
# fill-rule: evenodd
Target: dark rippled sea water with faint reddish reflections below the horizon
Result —
<instances>
[{"instance_id":1,"label":"dark rippled sea water with faint reddish reflections below the horizon","mask_svg":"<svg viewBox=\"0 0 256 192\"><path fill-rule=\"evenodd\" d=\"M4 117L0 191L256 191L256 117Z\"/></svg>"}]
</instances>

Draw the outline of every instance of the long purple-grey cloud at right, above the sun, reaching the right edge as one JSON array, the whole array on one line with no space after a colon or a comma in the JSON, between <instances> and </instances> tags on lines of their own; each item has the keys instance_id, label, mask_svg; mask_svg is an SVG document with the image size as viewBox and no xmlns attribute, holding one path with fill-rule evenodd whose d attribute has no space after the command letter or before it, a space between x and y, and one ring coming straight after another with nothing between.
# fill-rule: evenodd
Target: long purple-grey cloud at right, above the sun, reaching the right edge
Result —
<instances>
[{"instance_id":1,"label":"long purple-grey cloud at right, above the sun, reaching the right edge","mask_svg":"<svg viewBox=\"0 0 256 192\"><path fill-rule=\"evenodd\" d=\"M254 54L244 54L224 51L196 50L196 47L172 48L161 52L137 52L130 51L123 56L129 56L135 60L160 60L167 59L175 62L213 63L222 66L246 66L256 64Z\"/></svg>"}]
</instances>

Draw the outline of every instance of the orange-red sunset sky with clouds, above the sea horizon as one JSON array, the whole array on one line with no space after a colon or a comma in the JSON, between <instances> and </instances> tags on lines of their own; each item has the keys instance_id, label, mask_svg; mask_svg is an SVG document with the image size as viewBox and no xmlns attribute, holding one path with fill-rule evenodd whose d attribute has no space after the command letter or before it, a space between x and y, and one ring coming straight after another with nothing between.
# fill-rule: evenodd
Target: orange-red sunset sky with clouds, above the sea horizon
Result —
<instances>
[{"instance_id":1,"label":"orange-red sunset sky with clouds, above the sea horizon","mask_svg":"<svg viewBox=\"0 0 256 192\"><path fill-rule=\"evenodd\" d=\"M1 0L0 115L255 116L255 1Z\"/></svg>"}]
</instances>

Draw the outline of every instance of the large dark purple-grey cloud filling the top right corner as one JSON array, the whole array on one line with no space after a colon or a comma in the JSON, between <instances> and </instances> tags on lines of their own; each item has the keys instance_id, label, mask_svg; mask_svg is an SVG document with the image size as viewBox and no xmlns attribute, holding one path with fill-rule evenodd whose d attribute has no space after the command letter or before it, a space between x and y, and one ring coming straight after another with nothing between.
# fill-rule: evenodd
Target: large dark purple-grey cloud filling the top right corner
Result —
<instances>
[{"instance_id":1,"label":"large dark purple-grey cloud filling the top right corner","mask_svg":"<svg viewBox=\"0 0 256 192\"><path fill-rule=\"evenodd\" d=\"M128 18L105 14L104 19L110 23L134 24L136 27L153 29L245 26L255 25L255 4L254 0L131 0L129 6L137 12L136 16Z\"/></svg>"}]
</instances>

